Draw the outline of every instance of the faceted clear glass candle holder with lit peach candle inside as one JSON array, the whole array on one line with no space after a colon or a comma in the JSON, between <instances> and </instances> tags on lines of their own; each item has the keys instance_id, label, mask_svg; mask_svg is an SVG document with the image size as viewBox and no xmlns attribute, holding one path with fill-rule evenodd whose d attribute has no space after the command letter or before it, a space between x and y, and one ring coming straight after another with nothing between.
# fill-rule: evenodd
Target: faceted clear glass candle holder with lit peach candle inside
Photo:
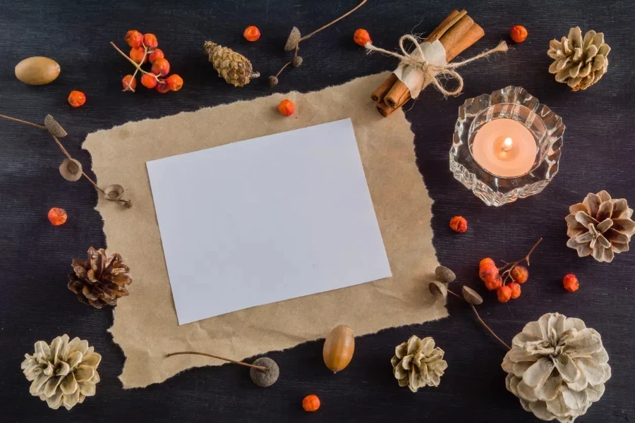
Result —
<instances>
[{"instance_id":1,"label":"faceted clear glass candle holder with lit peach candle inside","mask_svg":"<svg viewBox=\"0 0 635 423\"><path fill-rule=\"evenodd\" d=\"M558 172L564 125L523 87L467 99L459 108L449 167L488 206L541 192Z\"/></svg>"}]
</instances>

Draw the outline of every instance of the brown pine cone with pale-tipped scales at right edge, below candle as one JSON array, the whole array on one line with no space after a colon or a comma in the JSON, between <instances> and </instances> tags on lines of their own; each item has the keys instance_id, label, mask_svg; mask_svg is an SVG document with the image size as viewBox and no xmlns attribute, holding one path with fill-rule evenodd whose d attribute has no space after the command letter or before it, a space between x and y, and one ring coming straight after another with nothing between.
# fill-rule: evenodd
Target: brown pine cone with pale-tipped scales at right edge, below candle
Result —
<instances>
[{"instance_id":1,"label":"brown pine cone with pale-tipped scales at right edge, below candle","mask_svg":"<svg viewBox=\"0 0 635 423\"><path fill-rule=\"evenodd\" d=\"M569 213L567 247L575 248L579 257L593 255L598 262L612 262L615 254L629 250L635 222L624 198L612 200L606 191L589 192L583 202L569 207Z\"/></svg>"}]
</instances>

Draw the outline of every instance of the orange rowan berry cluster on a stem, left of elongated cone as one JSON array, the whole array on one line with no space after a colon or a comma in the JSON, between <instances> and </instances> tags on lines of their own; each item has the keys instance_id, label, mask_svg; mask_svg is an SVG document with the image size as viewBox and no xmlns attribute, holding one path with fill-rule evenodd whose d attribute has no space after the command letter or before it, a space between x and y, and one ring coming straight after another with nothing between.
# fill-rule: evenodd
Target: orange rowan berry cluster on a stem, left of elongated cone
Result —
<instances>
[{"instance_id":1,"label":"orange rowan berry cluster on a stem, left of elongated cone","mask_svg":"<svg viewBox=\"0 0 635 423\"><path fill-rule=\"evenodd\" d=\"M170 73L170 63L165 59L163 51L157 48L159 42L154 34L142 34L137 30L129 30L126 33L126 42L131 47L129 57L113 44L137 68L133 75L126 75L121 80L123 91L135 91L137 87L135 77L139 72L143 74L141 75L141 85L146 88L154 88L161 93L181 90L183 79L176 73L167 76ZM150 72L141 68L147 62L152 65Z\"/></svg>"}]
</instances>

